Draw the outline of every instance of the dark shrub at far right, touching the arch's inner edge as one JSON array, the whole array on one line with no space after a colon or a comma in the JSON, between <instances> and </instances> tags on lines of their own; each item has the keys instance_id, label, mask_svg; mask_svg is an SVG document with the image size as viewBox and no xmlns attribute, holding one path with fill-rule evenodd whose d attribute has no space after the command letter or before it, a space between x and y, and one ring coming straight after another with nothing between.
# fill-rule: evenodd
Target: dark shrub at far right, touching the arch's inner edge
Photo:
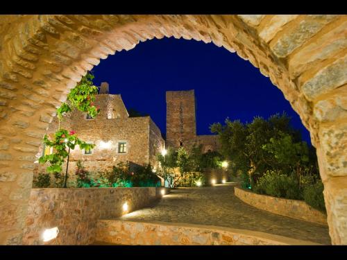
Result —
<instances>
[{"instance_id":1,"label":"dark shrub at far right, touching the arch's inner edge","mask_svg":"<svg viewBox=\"0 0 347 260\"><path fill-rule=\"evenodd\" d=\"M325 213L323 189L323 182L321 181L308 185L303 191L303 198L308 205Z\"/></svg>"}]
</instances>

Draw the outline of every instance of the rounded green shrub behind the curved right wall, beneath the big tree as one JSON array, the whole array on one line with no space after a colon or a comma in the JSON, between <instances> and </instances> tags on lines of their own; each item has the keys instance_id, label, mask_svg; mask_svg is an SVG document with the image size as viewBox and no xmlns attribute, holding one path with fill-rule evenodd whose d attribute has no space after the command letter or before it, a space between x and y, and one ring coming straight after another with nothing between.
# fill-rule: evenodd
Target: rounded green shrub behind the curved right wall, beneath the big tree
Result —
<instances>
[{"instance_id":1,"label":"rounded green shrub behind the curved right wall, beneath the big tree","mask_svg":"<svg viewBox=\"0 0 347 260\"><path fill-rule=\"evenodd\" d=\"M280 171L266 171L257 180L254 191L278 198L301 200L303 198L296 175L285 175Z\"/></svg>"}]
</instances>

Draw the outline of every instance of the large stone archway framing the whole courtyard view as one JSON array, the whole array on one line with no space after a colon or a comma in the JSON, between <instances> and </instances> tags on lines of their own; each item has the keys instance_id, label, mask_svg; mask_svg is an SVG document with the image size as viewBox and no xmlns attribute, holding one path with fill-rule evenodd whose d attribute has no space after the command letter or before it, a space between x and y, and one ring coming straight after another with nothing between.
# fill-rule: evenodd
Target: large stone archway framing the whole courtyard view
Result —
<instances>
[{"instance_id":1,"label":"large stone archway framing the whole courtyard view","mask_svg":"<svg viewBox=\"0 0 347 260\"><path fill-rule=\"evenodd\" d=\"M347 244L346 15L0 17L0 244L20 244L35 153L87 70L139 41L213 42L269 77L310 130L333 244Z\"/></svg>"}]
</instances>

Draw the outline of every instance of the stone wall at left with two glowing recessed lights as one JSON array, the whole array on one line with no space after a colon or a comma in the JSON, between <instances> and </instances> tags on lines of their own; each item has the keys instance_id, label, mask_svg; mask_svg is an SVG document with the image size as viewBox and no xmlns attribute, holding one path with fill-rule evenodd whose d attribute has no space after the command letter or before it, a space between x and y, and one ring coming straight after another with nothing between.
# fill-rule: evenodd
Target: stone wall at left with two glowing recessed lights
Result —
<instances>
[{"instance_id":1,"label":"stone wall at left with two glowing recessed lights","mask_svg":"<svg viewBox=\"0 0 347 260\"><path fill-rule=\"evenodd\" d=\"M93 243L96 221L117 218L160 198L159 188L32 189L23 244L87 245ZM57 239L43 242L46 228L58 227Z\"/></svg>"}]
</instances>

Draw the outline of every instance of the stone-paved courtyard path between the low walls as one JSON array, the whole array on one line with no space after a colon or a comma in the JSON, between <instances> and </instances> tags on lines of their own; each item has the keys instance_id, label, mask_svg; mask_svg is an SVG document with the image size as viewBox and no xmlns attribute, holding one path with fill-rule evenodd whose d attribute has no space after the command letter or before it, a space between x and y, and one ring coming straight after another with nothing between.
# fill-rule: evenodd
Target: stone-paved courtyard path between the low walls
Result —
<instances>
[{"instance_id":1,"label":"stone-paved courtyard path between the low walls","mask_svg":"<svg viewBox=\"0 0 347 260\"><path fill-rule=\"evenodd\" d=\"M120 219L216 225L331 244L328 226L271 214L247 205L235 196L234 184L174 189L159 202Z\"/></svg>"}]
</instances>

